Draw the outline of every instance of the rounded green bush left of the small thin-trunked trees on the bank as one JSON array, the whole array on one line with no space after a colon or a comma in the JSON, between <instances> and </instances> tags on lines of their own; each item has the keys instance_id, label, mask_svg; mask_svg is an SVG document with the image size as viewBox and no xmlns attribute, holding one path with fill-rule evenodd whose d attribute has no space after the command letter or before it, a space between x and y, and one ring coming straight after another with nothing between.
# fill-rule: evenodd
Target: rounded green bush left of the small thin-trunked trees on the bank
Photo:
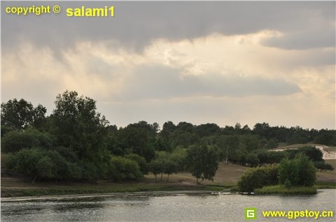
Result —
<instances>
[{"instance_id":1,"label":"rounded green bush left of the small thin-trunked trees on the bank","mask_svg":"<svg viewBox=\"0 0 336 222\"><path fill-rule=\"evenodd\" d=\"M144 177L136 161L121 156L111 158L110 178L113 181L134 180Z\"/></svg>"}]
</instances>

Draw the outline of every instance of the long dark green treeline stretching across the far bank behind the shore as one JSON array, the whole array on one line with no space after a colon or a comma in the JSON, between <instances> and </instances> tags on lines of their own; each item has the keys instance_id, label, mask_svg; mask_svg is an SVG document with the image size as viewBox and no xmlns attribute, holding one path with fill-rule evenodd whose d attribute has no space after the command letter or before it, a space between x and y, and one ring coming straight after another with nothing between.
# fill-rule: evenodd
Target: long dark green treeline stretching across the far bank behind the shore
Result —
<instances>
[{"instance_id":1,"label":"long dark green treeline stretching across the far bank behind the shore","mask_svg":"<svg viewBox=\"0 0 336 222\"><path fill-rule=\"evenodd\" d=\"M267 154L279 142L336 145L335 130L286 128L269 124L219 127L167 121L146 121L118 128L97 112L96 101L65 91L55 109L45 115L21 99L1 104L1 152L6 167L36 179L139 179L153 172L157 179L189 170L197 179L213 179L218 162L241 165L279 163L280 154ZM262 151L260 151L262 150ZM262 156L264 155L264 156ZM273 155L273 156L272 156ZM271 161L269 161L271 160ZM160 176L160 177L159 177Z\"/></svg>"}]
</instances>

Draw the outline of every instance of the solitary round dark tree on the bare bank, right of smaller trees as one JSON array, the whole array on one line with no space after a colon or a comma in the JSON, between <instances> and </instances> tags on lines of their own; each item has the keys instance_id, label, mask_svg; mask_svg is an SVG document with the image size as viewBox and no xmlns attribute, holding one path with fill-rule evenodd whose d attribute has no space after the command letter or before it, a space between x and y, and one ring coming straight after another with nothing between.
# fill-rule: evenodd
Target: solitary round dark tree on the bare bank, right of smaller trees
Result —
<instances>
[{"instance_id":1,"label":"solitary round dark tree on the bare bank, right of smaller trees","mask_svg":"<svg viewBox=\"0 0 336 222\"><path fill-rule=\"evenodd\" d=\"M187 151L186 165L191 174L198 179L214 180L218 169L217 151L207 145L193 145Z\"/></svg>"}]
</instances>

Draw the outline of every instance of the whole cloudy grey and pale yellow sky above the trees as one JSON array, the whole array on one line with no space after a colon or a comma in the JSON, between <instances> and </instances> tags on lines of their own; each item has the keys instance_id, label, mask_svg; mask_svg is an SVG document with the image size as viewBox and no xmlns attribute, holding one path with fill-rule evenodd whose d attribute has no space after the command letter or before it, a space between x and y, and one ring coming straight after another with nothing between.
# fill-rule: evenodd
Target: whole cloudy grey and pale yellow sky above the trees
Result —
<instances>
[{"instance_id":1,"label":"whole cloudy grey and pale yellow sky above the trees","mask_svg":"<svg viewBox=\"0 0 336 222\"><path fill-rule=\"evenodd\" d=\"M10 6L61 6L13 15ZM114 17L66 8L114 6ZM335 1L1 1L1 101L57 94L110 124L335 129Z\"/></svg>"}]
</instances>

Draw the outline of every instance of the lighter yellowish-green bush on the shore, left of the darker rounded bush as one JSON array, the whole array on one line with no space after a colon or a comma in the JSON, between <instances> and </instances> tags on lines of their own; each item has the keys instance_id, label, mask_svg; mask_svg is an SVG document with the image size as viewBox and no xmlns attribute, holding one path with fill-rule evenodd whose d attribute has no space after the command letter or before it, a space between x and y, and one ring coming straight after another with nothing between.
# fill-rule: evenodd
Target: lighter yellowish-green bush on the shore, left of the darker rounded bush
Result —
<instances>
[{"instance_id":1,"label":"lighter yellowish-green bush on the shore, left of the darker rounded bush","mask_svg":"<svg viewBox=\"0 0 336 222\"><path fill-rule=\"evenodd\" d=\"M252 192L255 188L275 185L278 168L276 166L249 169L238 182L239 191Z\"/></svg>"}]
</instances>

